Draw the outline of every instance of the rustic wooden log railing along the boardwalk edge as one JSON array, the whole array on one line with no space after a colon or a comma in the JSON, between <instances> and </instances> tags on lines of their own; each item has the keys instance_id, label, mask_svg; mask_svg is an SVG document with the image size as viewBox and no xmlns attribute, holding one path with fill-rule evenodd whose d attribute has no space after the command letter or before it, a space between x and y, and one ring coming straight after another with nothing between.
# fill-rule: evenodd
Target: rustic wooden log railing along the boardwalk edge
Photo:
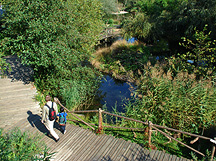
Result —
<instances>
[{"instance_id":1,"label":"rustic wooden log railing along the boardwalk edge","mask_svg":"<svg viewBox=\"0 0 216 161\"><path fill-rule=\"evenodd\" d=\"M205 136L202 136L202 135L197 135L197 134L191 134L191 133L188 133L188 132L184 132L184 131L181 131L181 130L177 130L177 129L173 129L173 128L169 128L169 127L164 127L164 126L160 126L160 125L157 125L157 124L153 124L151 121L140 121L140 120L136 120L136 119L132 119L132 118L128 118L128 117L124 117L124 116L120 116L120 115L117 115L117 114L113 114L113 113L109 113L109 112L106 112L102 109L99 108L99 110L84 110L84 111L70 111L68 110L66 107L64 107L61 102L58 100L58 98L54 98L54 102L58 103L61 107L63 107L68 113L72 114L75 118L77 118L80 122L84 123L85 125L89 126L92 130L96 131L97 130L97 133L102 133L103 131L103 128L106 127L106 128L119 128L119 129L130 129L130 130L144 130L144 128L129 128L129 127L114 127L114 126L103 126L103 116L102 114L107 114L107 115L111 115L111 116L114 116L114 117L118 117L118 118L122 118L122 119L125 119L125 120L129 120L129 121L134 121L134 122L138 122L138 123L142 123L144 125L147 125L148 126L148 145L149 147L151 147L151 137L152 137L152 129L156 130L157 132L160 132L161 134L163 134L164 136L166 136L167 138L171 139L171 140L175 140L176 142L178 142L179 144L182 144L183 146L191 149L192 151L202 155L202 156L205 156L203 153L201 153L200 151L184 144L183 142L177 140L176 138L170 136L169 134L163 132L162 130L160 130L159 128L161 129L166 129L166 130L170 130L170 131L173 131L173 132L177 132L177 133L181 133L181 134L185 134L185 135L189 135L189 136L193 136L193 137L196 137L193 141L191 141L191 144L195 143L198 139L205 139L205 140L209 140L209 142L216 142L216 138L211 139L209 137L205 137ZM98 121L98 125L95 125L95 124L92 124L92 123L86 123L85 121L83 121L81 118L79 118L77 115L75 115L75 113L98 113L99 115L99 121ZM70 119L68 119L70 120ZM74 122L77 122L77 120L71 120L71 121L74 121ZM98 127L96 130L95 128L93 127ZM212 155L211 155L211 161L213 161L213 158L214 158L214 153L215 153L215 144L213 144L213 147L212 147Z\"/></svg>"}]
</instances>

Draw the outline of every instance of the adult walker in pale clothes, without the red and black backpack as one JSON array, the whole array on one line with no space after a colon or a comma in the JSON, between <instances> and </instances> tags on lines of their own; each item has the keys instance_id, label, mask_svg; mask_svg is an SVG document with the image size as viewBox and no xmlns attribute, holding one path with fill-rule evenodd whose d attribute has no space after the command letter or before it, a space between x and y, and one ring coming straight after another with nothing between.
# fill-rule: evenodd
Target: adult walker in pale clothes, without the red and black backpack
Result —
<instances>
[{"instance_id":1,"label":"adult walker in pale clothes, without the red and black backpack","mask_svg":"<svg viewBox=\"0 0 216 161\"><path fill-rule=\"evenodd\" d=\"M49 95L46 96L45 100L46 100L46 105L43 107L41 122L49 130L50 134L55 138L56 142L58 142L60 138L53 129L55 120L52 121L49 120L49 108L47 106L52 108L52 104L53 104L53 108L56 111L56 115L58 114L58 107L55 102L51 101L51 97Z\"/></svg>"}]
</instances>

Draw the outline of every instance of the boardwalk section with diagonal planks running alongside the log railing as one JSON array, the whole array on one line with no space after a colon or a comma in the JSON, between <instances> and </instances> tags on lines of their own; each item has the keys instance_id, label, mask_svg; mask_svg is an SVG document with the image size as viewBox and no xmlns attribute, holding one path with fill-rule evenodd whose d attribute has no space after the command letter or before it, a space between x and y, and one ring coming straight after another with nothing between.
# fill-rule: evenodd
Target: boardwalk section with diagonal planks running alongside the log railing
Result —
<instances>
[{"instance_id":1,"label":"boardwalk section with diagonal planks running alongside the log railing","mask_svg":"<svg viewBox=\"0 0 216 161\"><path fill-rule=\"evenodd\" d=\"M55 131L60 137L56 143L45 135L48 131L40 119L40 115L31 114L5 130L19 127L23 132L42 136L41 141L50 148L49 152L56 152L53 157L56 161L188 161L162 151L150 151L136 143L110 135L96 135L89 129L71 124L67 124L66 134L62 134L58 124L55 124Z\"/></svg>"}]
</instances>

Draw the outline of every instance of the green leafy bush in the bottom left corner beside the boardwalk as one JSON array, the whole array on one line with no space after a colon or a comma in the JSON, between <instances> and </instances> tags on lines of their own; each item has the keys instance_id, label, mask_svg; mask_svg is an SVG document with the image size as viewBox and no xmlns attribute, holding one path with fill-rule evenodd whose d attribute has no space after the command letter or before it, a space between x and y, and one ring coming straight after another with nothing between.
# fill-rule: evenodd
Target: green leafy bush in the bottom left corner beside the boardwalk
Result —
<instances>
[{"instance_id":1,"label":"green leafy bush in the bottom left corner beside the boardwalk","mask_svg":"<svg viewBox=\"0 0 216 161\"><path fill-rule=\"evenodd\" d=\"M40 137L32 136L28 132L22 133L20 129L12 129L3 134L0 129L0 160L29 161L49 160L53 154L39 142Z\"/></svg>"}]
</instances>

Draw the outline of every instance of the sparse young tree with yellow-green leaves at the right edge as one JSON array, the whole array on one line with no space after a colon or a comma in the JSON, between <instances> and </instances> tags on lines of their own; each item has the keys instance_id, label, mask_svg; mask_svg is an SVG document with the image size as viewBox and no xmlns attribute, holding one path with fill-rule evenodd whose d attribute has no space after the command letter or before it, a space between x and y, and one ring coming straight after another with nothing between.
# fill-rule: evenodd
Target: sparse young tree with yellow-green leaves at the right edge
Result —
<instances>
[{"instance_id":1,"label":"sparse young tree with yellow-green leaves at the right edge","mask_svg":"<svg viewBox=\"0 0 216 161\"><path fill-rule=\"evenodd\" d=\"M207 26L202 31L195 30L193 39L183 37L183 43L180 45L188 49L188 52L181 54L177 62L181 62L181 69L184 71L194 72L197 76L214 76L216 73L216 49L215 40L211 41L211 32L207 31ZM191 60L193 63L188 63Z\"/></svg>"}]
</instances>

